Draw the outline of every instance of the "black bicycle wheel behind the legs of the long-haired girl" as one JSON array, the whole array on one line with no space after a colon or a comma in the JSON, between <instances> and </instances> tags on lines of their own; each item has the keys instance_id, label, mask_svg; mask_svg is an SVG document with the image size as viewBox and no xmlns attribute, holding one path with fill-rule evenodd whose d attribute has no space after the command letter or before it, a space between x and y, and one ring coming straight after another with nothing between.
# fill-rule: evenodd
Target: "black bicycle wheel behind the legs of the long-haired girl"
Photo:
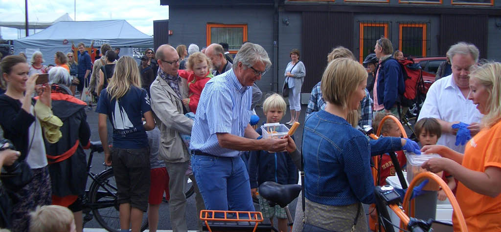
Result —
<instances>
[{"instance_id":1,"label":"black bicycle wheel behind the legs of the long-haired girl","mask_svg":"<svg viewBox=\"0 0 501 232\"><path fill-rule=\"evenodd\" d=\"M120 212L113 168L96 176L89 190L89 201L94 217L108 231L120 231ZM148 214L143 214L141 231L148 228Z\"/></svg>"}]
</instances>

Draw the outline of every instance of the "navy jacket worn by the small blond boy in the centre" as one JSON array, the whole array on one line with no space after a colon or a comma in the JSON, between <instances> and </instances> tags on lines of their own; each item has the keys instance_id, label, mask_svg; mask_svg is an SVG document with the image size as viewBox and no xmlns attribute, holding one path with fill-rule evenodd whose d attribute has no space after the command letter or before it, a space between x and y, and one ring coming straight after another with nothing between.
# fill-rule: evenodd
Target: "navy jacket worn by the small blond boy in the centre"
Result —
<instances>
[{"instance_id":1,"label":"navy jacket worn by the small blond boy in the centre","mask_svg":"<svg viewBox=\"0 0 501 232\"><path fill-rule=\"evenodd\" d=\"M260 135L263 134L261 127L256 132ZM292 138L294 139L294 136ZM280 184L298 183L298 168L292 161L289 152L250 151L248 166L250 188L256 188L266 181Z\"/></svg>"}]
</instances>

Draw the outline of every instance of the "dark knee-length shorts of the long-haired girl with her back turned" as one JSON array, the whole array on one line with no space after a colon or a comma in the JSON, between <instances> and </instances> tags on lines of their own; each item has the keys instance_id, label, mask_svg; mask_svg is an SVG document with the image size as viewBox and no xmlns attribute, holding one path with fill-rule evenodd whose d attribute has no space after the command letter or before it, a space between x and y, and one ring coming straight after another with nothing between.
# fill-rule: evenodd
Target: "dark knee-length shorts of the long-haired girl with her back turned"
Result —
<instances>
[{"instance_id":1,"label":"dark knee-length shorts of the long-haired girl with her back turned","mask_svg":"<svg viewBox=\"0 0 501 232\"><path fill-rule=\"evenodd\" d=\"M117 183L118 203L145 212L150 191L150 153L148 147L139 149L112 148L113 173Z\"/></svg>"}]
</instances>

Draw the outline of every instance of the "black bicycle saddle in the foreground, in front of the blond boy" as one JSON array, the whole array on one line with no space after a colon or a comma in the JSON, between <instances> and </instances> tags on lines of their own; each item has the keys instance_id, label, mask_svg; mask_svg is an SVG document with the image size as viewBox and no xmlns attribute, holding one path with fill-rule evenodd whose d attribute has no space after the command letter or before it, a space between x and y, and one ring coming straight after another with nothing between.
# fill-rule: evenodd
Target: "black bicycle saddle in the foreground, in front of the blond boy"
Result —
<instances>
[{"instance_id":1,"label":"black bicycle saddle in the foreground, in front of the blond boy","mask_svg":"<svg viewBox=\"0 0 501 232\"><path fill-rule=\"evenodd\" d=\"M259 185L259 194L263 198L272 201L272 203L280 205L280 207L285 207L296 199L299 192L301 192L301 185L299 184L280 184L274 181L266 181Z\"/></svg>"}]
</instances>

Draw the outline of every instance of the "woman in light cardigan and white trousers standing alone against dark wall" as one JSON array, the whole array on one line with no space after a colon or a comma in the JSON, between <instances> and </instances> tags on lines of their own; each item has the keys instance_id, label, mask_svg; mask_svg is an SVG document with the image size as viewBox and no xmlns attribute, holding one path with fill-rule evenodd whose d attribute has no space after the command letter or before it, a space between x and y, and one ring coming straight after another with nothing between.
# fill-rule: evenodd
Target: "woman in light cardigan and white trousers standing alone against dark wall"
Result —
<instances>
[{"instance_id":1,"label":"woman in light cardigan and white trousers standing alone against dark wall","mask_svg":"<svg viewBox=\"0 0 501 232\"><path fill-rule=\"evenodd\" d=\"M290 53L292 61L285 68L285 83L288 84L291 90L289 95L289 104L291 108L291 120L286 124L292 125L299 121L301 114L301 86L306 75L305 64L299 60L299 50L292 49Z\"/></svg>"}]
</instances>

